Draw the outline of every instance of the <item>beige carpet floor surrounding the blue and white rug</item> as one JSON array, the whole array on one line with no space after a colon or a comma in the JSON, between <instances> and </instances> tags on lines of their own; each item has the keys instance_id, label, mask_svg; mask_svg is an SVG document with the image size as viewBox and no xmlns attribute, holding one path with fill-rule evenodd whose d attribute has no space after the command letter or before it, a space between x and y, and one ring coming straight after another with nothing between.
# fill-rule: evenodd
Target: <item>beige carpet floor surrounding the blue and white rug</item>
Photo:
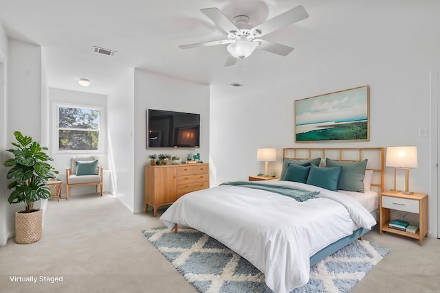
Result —
<instances>
[{"instance_id":1,"label":"beige carpet floor surrounding the blue and white rug","mask_svg":"<svg viewBox=\"0 0 440 293\"><path fill-rule=\"evenodd\" d=\"M163 225L152 212L132 215L110 195L50 200L39 242L11 238L0 247L0 292L196 292L142 235L155 226ZM391 253L351 292L440 292L440 239L419 246L377 231L364 239ZM53 277L63 281L51 283Z\"/></svg>"}]
</instances>

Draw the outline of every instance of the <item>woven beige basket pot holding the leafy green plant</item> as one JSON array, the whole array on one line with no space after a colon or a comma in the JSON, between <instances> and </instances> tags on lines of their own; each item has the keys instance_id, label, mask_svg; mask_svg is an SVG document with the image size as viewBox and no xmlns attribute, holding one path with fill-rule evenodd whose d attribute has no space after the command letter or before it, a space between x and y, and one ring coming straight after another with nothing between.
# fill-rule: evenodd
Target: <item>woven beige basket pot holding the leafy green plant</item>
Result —
<instances>
[{"instance_id":1,"label":"woven beige basket pot holding the leafy green plant","mask_svg":"<svg viewBox=\"0 0 440 293\"><path fill-rule=\"evenodd\" d=\"M43 235L43 210L32 210L31 213L15 213L15 242L30 244L39 241Z\"/></svg>"}]
</instances>

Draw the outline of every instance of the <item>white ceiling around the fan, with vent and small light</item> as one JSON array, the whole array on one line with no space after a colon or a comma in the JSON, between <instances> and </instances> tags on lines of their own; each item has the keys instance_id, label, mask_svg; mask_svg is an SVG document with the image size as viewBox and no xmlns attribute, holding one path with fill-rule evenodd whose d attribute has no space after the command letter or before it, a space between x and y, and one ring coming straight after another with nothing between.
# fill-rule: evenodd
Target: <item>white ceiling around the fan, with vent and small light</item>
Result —
<instances>
[{"instance_id":1,"label":"white ceiling around the fan, with vent and small light","mask_svg":"<svg viewBox=\"0 0 440 293\"><path fill-rule=\"evenodd\" d=\"M408 25L403 31L400 27L407 19L406 10L414 13L419 9L419 13L424 13L419 7L422 5L404 0L369 1L376 5L364 2L0 0L0 20L10 38L41 45L50 87L105 95L133 68L203 84L252 85L300 78L311 67L319 71L329 66L327 62L338 62L338 58L364 58L358 48L375 51L379 49L378 42L386 47L391 32L394 40L388 47L390 51L399 46L408 48L399 34L403 37L417 27ZM406 4L397 9L396 3L402 2ZM286 57L256 50L241 64L223 67L228 57L225 45L185 50L178 47L225 38L199 11L201 8L219 8L229 19L245 14L250 17L250 24L258 25L297 5L304 6L308 19L265 36L267 40L294 47ZM378 5L381 9L377 9ZM377 23L389 23L389 27L377 29ZM114 58L94 54L94 45L118 54ZM79 86L79 78L88 78L91 86Z\"/></svg>"}]
</instances>

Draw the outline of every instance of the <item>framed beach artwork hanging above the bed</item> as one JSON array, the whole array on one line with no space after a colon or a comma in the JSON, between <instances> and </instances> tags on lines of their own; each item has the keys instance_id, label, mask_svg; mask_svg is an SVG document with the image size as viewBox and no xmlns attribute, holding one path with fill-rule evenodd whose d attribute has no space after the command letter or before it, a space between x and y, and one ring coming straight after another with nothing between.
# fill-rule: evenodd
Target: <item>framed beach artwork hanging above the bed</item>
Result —
<instances>
[{"instance_id":1,"label":"framed beach artwork hanging above the bed","mask_svg":"<svg viewBox=\"0 0 440 293\"><path fill-rule=\"evenodd\" d=\"M370 86L295 101L295 141L369 141Z\"/></svg>"}]
</instances>

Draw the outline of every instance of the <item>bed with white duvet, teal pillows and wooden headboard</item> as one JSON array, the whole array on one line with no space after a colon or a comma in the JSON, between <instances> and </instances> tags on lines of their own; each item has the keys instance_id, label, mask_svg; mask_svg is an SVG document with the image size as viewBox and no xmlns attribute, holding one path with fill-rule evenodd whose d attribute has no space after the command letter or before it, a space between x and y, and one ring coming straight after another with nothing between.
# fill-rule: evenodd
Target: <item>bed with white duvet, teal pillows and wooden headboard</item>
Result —
<instances>
[{"instance_id":1,"label":"bed with white duvet, teal pillows and wooden headboard","mask_svg":"<svg viewBox=\"0 0 440 293\"><path fill-rule=\"evenodd\" d=\"M364 169L362 178L352 166ZM348 189L340 185L342 181L353 189L347 178L358 189L362 184L364 192L341 191L340 187ZM384 148L285 148L281 179L192 192L179 198L160 220L170 229L183 224L210 235L261 270L274 292L290 292L309 281L311 265L376 224ZM294 195L286 196L285 190Z\"/></svg>"}]
</instances>

